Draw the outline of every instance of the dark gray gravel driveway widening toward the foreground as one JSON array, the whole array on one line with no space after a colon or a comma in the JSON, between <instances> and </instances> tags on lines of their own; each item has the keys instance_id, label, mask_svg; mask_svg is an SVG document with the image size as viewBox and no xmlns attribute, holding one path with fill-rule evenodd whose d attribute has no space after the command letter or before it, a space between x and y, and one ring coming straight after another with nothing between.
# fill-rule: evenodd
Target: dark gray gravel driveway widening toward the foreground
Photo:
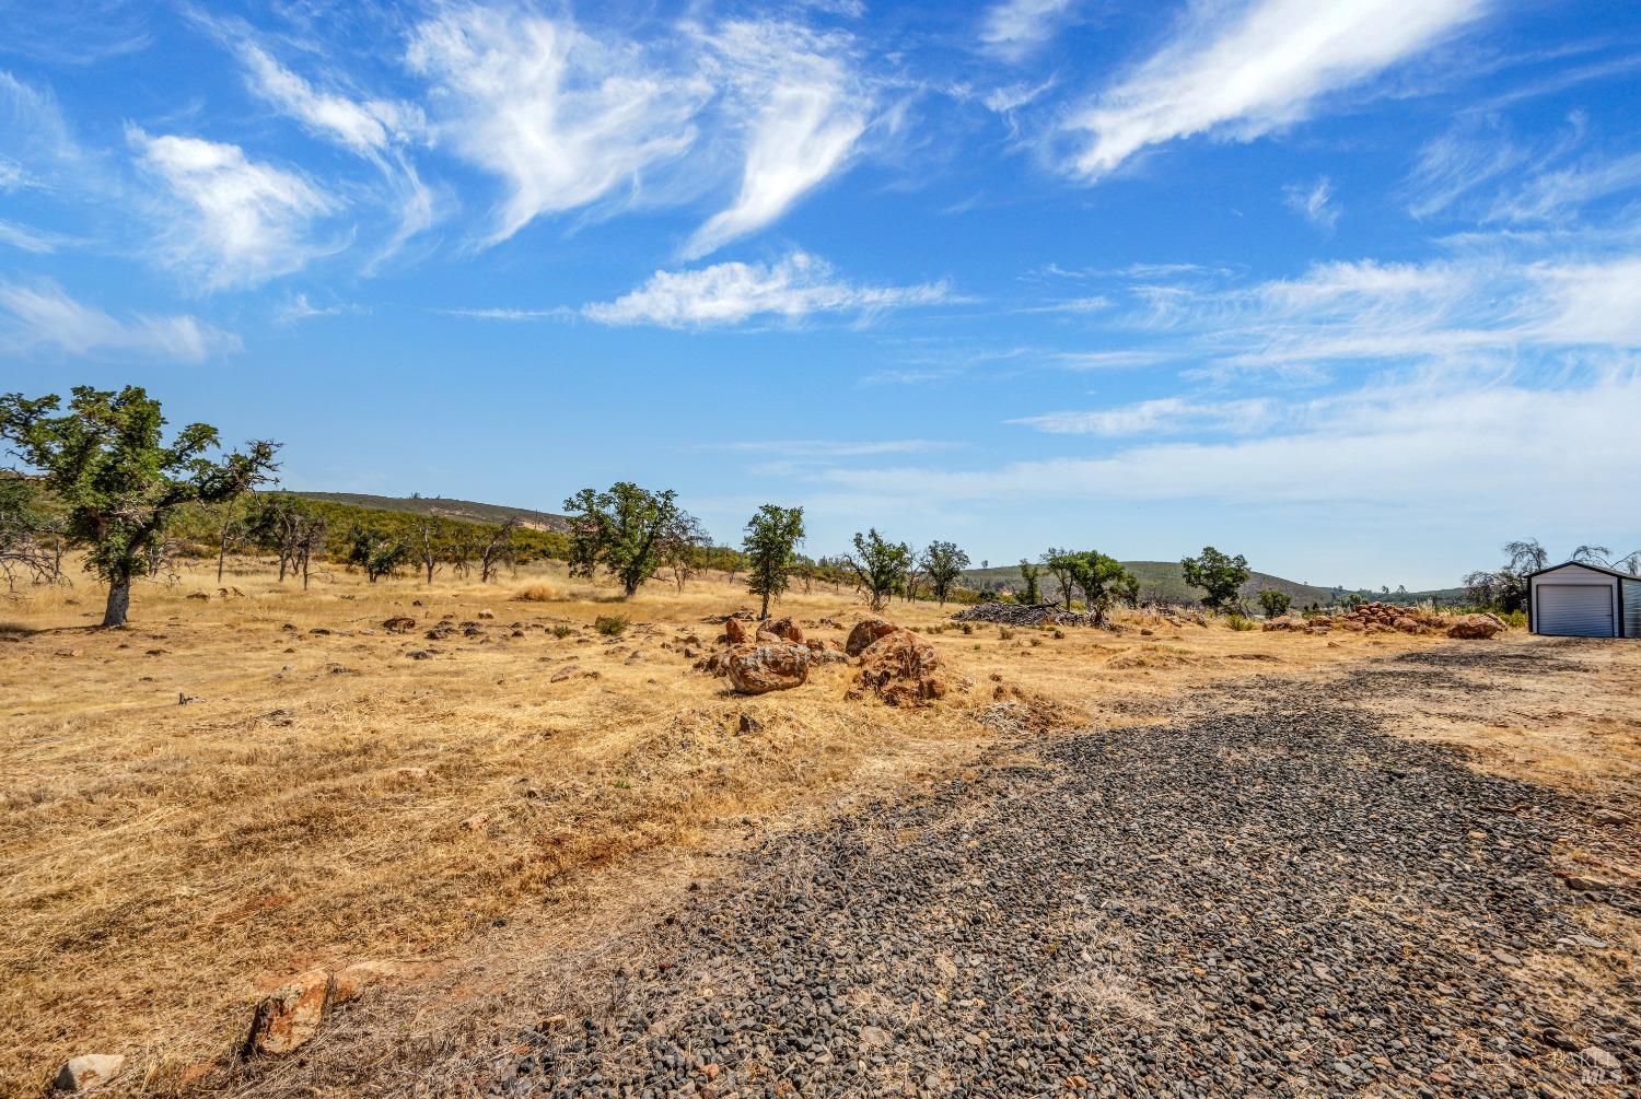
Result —
<instances>
[{"instance_id":1,"label":"dark gray gravel driveway widening toward the foreground","mask_svg":"<svg viewBox=\"0 0 1641 1099\"><path fill-rule=\"evenodd\" d=\"M1451 686L1446 664L1474 659L1452 646L1324 689L1252 681L1219 712L1039 738L1027 766L999 755L973 781L766 843L656 928L671 961L624 974L612 1012L517 1035L528 1051L474 1083L1634 1094L1634 1004L1562 1001L1528 963L1611 950L1577 938L1574 910L1631 905L1552 874L1574 807L1395 740L1351 702L1387 677Z\"/></svg>"}]
</instances>

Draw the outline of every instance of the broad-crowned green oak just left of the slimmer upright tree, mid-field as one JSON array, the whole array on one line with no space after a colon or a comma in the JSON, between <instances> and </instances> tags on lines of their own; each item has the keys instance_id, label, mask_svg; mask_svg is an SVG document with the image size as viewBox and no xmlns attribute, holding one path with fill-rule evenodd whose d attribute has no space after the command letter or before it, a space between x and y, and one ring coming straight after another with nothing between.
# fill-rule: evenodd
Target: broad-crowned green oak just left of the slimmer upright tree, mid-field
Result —
<instances>
[{"instance_id":1,"label":"broad-crowned green oak just left of the slimmer upright tree, mid-field","mask_svg":"<svg viewBox=\"0 0 1641 1099\"><path fill-rule=\"evenodd\" d=\"M609 492L583 489L565 500L569 513L569 574L609 569L632 597L679 546L693 545L699 523L678 507L671 489L650 492L619 481Z\"/></svg>"}]
</instances>

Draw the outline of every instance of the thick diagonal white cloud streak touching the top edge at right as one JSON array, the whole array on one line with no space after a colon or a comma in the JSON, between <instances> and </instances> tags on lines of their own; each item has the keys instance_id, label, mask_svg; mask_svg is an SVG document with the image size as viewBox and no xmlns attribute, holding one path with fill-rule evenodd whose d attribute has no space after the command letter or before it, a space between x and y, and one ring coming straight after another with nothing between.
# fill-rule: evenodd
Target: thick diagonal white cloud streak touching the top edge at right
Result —
<instances>
[{"instance_id":1,"label":"thick diagonal white cloud streak touching the top edge at right","mask_svg":"<svg viewBox=\"0 0 1641 1099\"><path fill-rule=\"evenodd\" d=\"M1252 0L1198 5L1175 38L1070 116L1085 179L1195 135L1252 141L1310 116L1479 18L1487 0Z\"/></svg>"}]
</instances>

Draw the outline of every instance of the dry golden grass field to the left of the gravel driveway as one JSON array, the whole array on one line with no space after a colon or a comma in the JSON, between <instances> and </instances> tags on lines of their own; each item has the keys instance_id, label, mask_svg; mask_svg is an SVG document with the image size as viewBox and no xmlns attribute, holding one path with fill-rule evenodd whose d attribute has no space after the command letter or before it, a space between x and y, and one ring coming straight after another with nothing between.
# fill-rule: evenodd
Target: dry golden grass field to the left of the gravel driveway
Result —
<instances>
[{"instance_id":1,"label":"dry golden grass field to the left of the gravel driveway","mask_svg":"<svg viewBox=\"0 0 1641 1099\"><path fill-rule=\"evenodd\" d=\"M537 928L515 958L560 950L565 928L535 914L583 871L960 766L994 705L1136 723L1216 679L1324 677L1438 643L1139 615L1121 635L1004 638L896 604L888 617L929 632L970 684L899 710L847 700L847 666L760 699L693 671L686 638L719 632L701 620L748 604L722 579L622 604L561 568L487 587L333 574L304 594L241 563L226 584L241 594L218 595L205 569L141 586L117 632L89 628L100 592L85 582L0 609L0 1092L87 1051L128 1055L123 1086L220 1079L248 1001L281 978L356 960L471 973L504 915L509 935L520 912ZM835 618L811 633L842 638L863 607L816 591L779 612ZM384 630L395 615L415 630ZM446 615L484 633L428 641ZM630 625L601 636L602 615ZM596 677L555 682L566 668ZM742 733L742 714L760 727Z\"/></svg>"}]
</instances>

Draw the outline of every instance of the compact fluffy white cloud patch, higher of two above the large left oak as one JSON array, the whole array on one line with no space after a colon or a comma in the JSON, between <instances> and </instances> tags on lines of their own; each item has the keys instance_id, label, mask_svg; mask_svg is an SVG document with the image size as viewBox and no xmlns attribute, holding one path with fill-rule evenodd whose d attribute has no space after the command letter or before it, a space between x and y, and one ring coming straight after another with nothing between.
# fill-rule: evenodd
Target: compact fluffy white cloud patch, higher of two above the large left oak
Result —
<instances>
[{"instance_id":1,"label":"compact fluffy white cloud patch, higher of two above the large left oak","mask_svg":"<svg viewBox=\"0 0 1641 1099\"><path fill-rule=\"evenodd\" d=\"M305 177L236 144L136 126L126 139L162 189L159 259L202 289L254 287L338 248L313 238L313 221L338 203Z\"/></svg>"}]
</instances>

